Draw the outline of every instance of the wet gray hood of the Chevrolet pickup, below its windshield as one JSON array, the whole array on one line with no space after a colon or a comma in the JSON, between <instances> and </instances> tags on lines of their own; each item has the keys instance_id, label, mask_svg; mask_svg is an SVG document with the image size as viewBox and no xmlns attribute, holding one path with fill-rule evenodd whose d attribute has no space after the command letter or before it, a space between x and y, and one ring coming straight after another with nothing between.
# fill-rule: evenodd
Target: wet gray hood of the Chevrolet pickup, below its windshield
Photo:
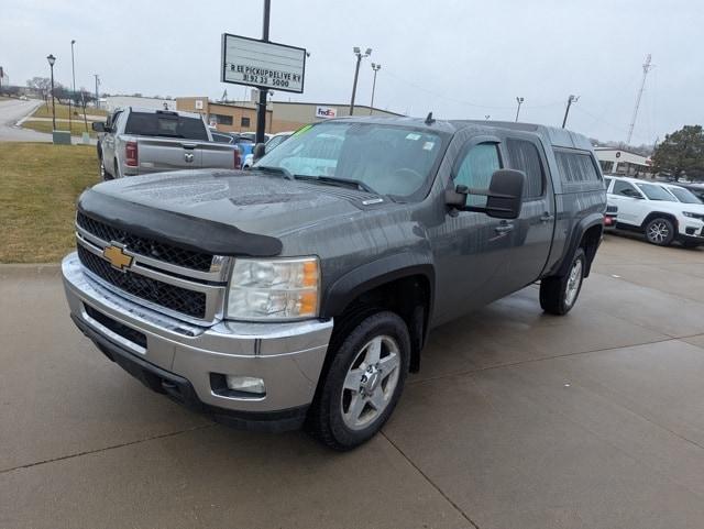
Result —
<instances>
[{"instance_id":1,"label":"wet gray hood of the Chevrolet pickup, below its windshield","mask_svg":"<svg viewBox=\"0 0 704 529\"><path fill-rule=\"evenodd\" d=\"M278 175L255 172L204 169L160 173L121 178L95 186L79 200L79 210L89 217L122 228L138 225L151 231L150 236L174 241L175 233L190 231L193 236L180 242L183 246L197 246L194 239L201 233L210 239L210 229L219 227L237 231L279 238L305 230L333 218L346 216L353 220L366 209L385 208L389 203L377 195L334 186L300 180L287 180ZM177 230L172 223L182 224ZM163 232L163 233L160 233ZM146 234L146 233L143 233ZM157 236L157 235L163 236ZM226 242L226 241L223 241ZM187 243L187 244L186 244ZM213 253L223 252L212 247ZM215 252L215 250L220 250ZM279 243L280 251L280 243ZM249 254L275 254L267 251Z\"/></svg>"}]
</instances>

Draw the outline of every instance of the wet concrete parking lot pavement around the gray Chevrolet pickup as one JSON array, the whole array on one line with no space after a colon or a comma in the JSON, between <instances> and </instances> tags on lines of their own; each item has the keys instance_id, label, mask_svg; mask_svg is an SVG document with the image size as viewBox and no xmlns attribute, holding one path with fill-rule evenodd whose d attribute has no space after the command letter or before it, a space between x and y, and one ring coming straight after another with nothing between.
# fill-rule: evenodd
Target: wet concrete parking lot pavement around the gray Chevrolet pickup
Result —
<instances>
[{"instance_id":1,"label":"wet concrete parking lot pavement around the gray Chevrolet pickup","mask_svg":"<svg viewBox=\"0 0 704 529\"><path fill-rule=\"evenodd\" d=\"M607 235L575 309L536 287L437 329L369 444L230 430L0 267L2 528L704 527L704 249Z\"/></svg>"}]
</instances>

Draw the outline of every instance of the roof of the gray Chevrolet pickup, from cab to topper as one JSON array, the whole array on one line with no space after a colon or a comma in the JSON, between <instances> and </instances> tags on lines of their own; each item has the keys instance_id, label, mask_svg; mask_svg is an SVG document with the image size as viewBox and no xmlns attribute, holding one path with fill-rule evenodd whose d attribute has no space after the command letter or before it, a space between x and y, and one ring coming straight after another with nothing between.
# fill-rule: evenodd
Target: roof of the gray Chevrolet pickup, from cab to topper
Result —
<instances>
[{"instance_id":1,"label":"roof of the gray Chevrolet pickup, from cab to topper","mask_svg":"<svg viewBox=\"0 0 704 529\"><path fill-rule=\"evenodd\" d=\"M409 118L409 117L344 117L336 118L333 121L354 121L364 123L377 123L389 124L396 123L405 126L414 126L420 129L428 129L428 131L439 131L449 134L453 134L464 129L477 129L487 131L495 130L509 130L528 132L540 135L546 142L556 147L566 148L580 148L585 151L592 151L592 142L588 137L579 134L576 132L569 131L566 129L559 129L557 126L547 126L536 123L515 123L513 121L485 121L485 120L435 120L431 123L427 123L422 118Z\"/></svg>"}]
</instances>

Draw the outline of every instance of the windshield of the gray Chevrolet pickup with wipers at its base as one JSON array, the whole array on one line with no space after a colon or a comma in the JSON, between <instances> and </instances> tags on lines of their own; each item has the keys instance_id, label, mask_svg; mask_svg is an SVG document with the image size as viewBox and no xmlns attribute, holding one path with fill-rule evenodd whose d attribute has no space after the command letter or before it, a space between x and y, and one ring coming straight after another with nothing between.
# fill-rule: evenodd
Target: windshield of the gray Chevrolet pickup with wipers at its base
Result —
<instances>
[{"instance_id":1,"label":"windshield of the gray Chevrolet pickup with wipers at its base","mask_svg":"<svg viewBox=\"0 0 704 529\"><path fill-rule=\"evenodd\" d=\"M381 195L409 198L420 191L440 157L439 134L376 123L306 125L256 167L334 184L359 181Z\"/></svg>"}]
</instances>

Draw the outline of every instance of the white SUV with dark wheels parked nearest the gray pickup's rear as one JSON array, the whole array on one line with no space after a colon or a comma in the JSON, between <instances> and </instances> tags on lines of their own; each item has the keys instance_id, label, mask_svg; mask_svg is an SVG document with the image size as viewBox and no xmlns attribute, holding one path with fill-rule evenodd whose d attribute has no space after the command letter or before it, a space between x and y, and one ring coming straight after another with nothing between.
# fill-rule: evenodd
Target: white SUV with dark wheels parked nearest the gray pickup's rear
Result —
<instances>
[{"instance_id":1,"label":"white SUV with dark wheels parked nearest the gray pickup's rear","mask_svg":"<svg viewBox=\"0 0 704 529\"><path fill-rule=\"evenodd\" d=\"M645 233L648 242L667 246L704 244L704 205L683 203L660 183L605 176L609 206L618 208L616 228Z\"/></svg>"}]
</instances>

